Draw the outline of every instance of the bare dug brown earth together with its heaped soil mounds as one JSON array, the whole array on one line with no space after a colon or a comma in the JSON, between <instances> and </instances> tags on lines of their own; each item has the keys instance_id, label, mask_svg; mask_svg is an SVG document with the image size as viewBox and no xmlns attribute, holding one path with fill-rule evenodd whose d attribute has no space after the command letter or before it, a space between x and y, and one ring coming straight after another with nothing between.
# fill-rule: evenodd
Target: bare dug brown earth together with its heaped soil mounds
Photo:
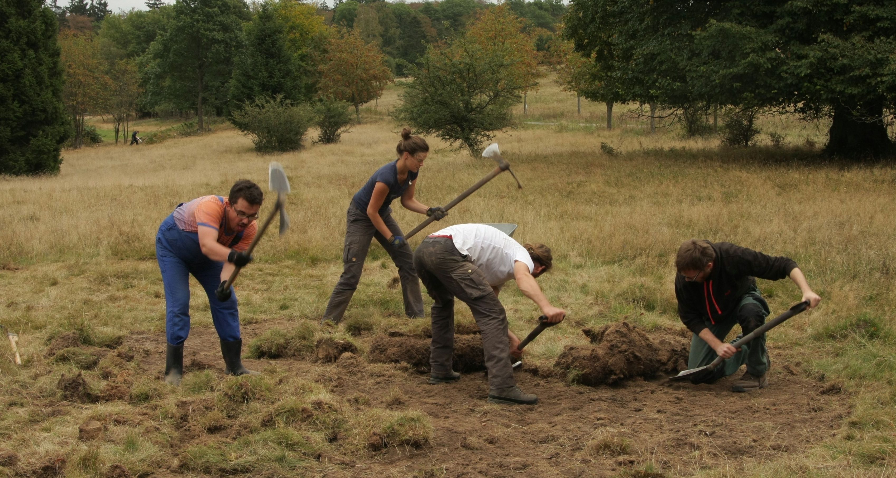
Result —
<instances>
[{"instance_id":1,"label":"bare dug brown earth together with its heaped soil mounds","mask_svg":"<svg viewBox=\"0 0 896 478\"><path fill-rule=\"evenodd\" d=\"M248 343L278 325L289 327L246 326L244 340ZM586 329L590 346L567 347L553 366L529 364L517 371L518 384L538 394L538 405L491 405L486 401L486 374L477 371L482 368L481 339L469 333L476 330L459 331L468 332L456 337L455 370L464 374L452 384L426 382L426 332L358 337L360 351L328 343L325 353L244 363L263 375L276 369L281 375L314 380L356 408L418 410L432 423L428 442L380 446L384 442L374 433L371 440L377 446L363 452L349 447L340 451L340 436L333 436L332 453L314 456L317 473L333 477L430 475L427 470L451 477L521 472L606 476L645 468L653 474L637 475L662 476L694 474L717 465L735 470L799 454L831 437L849 414L847 397L839 388L809 379L786 364L770 371L770 388L746 394L729 391L735 377L711 385L669 383L664 377L684 366L685 338L674 330L647 334L625 323ZM135 334L123 347L140 356L145 374L160 380L165 363L162 334ZM335 354L339 358L331 362ZM209 369L224 380L214 329L191 332L185 363L186 376ZM126 383L120 377L118 381ZM172 441L176 448L202 444L210 434L216 440L238 440L240 427L264 426L228 423L221 417L202 420L213 423L179 431ZM159 475L182 473L177 465L166 466L171 469Z\"/></svg>"}]
</instances>

